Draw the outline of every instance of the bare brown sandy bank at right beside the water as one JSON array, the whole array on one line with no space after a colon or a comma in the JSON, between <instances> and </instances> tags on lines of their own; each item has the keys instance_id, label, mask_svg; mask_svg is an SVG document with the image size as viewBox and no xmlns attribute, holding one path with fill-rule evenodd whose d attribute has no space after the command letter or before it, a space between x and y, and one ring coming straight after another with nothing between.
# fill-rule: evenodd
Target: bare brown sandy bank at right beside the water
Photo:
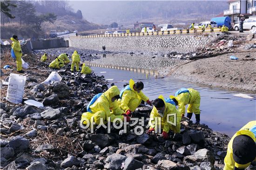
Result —
<instances>
[{"instance_id":1,"label":"bare brown sandy bank at right beside the water","mask_svg":"<svg viewBox=\"0 0 256 170\"><path fill-rule=\"evenodd\" d=\"M235 55L238 60L229 57ZM249 55L250 57L245 57ZM173 68L165 70L167 75ZM199 59L177 68L173 78L226 89L256 93L256 49Z\"/></svg>"}]
</instances>

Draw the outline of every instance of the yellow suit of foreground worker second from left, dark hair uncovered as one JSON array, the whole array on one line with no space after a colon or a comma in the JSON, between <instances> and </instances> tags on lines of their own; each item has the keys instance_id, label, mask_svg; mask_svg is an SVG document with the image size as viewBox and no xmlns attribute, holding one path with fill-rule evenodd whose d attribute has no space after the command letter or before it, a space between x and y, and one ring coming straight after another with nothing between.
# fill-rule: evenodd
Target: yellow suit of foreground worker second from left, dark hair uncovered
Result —
<instances>
[{"instance_id":1,"label":"yellow suit of foreground worker second from left, dark hair uncovered","mask_svg":"<svg viewBox=\"0 0 256 170\"><path fill-rule=\"evenodd\" d=\"M125 112L128 110L135 111L135 109L141 104L141 101L148 101L148 97L143 92L136 92L133 88L135 82L130 79L129 85L121 90L121 100L118 103L122 110Z\"/></svg>"}]
</instances>

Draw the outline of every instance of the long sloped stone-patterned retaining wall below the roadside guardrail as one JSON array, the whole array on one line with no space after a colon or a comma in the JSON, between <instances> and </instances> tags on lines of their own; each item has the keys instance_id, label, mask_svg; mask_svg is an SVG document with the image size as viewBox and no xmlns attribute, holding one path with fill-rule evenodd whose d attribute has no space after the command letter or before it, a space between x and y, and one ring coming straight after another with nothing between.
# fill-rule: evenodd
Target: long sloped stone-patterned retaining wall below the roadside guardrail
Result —
<instances>
[{"instance_id":1,"label":"long sloped stone-patterned retaining wall below the roadside guardrail","mask_svg":"<svg viewBox=\"0 0 256 170\"><path fill-rule=\"evenodd\" d=\"M216 33L201 35L166 35L166 36L130 36L130 37L95 37L70 38L69 46L91 50L113 52L195 52L216 38Z\"/></svg>"}]
</instances>

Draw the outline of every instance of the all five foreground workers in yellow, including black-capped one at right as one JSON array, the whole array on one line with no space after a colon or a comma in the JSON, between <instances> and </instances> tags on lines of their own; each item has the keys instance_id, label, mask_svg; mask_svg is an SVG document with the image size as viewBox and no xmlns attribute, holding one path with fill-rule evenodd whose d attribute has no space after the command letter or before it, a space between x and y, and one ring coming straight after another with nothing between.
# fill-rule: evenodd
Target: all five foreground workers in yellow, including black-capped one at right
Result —
<instances>
[{"instance_id":1,"label":"all five foreground workers in yellow, including black-capped one at right","mask_svg":"<svg viewBox=\"0 0 256 170\"><path fill-rule=\"evenodd\" d=\"M91 124L92 121L96 125L107 124L108 121L113 123L115 118L120 118L122 121L126 119L129 122L132 113L142 100L148 105L153 105L148 133L154 132L155 127L159 127L159 124L161 124L162 136L165 139L168 139L169 131L180 133L180 122L185 114L186 105L188 105L187 118L191 119L195 113L195 124L200 124L201 97L198 91L192 88L181 88L175 93L175 96L170 95L169 98L164 98L160 95L151 103L149 98L141 92L143 88L144 84L141 81L135 83L130 79L129 85L124 87L121 92L114 85L106 92L95 95L87 106L87 112L81 116L81 124ZM169 123L175 119L172 116L168 117L168 114L176 114L176 125ZM155 118L161 118L161 121L154 122ZM231 138L224 159L224 170L243 170L254 160L256 160L256 121L251 121Z\"/></svg>"}]
</instances>

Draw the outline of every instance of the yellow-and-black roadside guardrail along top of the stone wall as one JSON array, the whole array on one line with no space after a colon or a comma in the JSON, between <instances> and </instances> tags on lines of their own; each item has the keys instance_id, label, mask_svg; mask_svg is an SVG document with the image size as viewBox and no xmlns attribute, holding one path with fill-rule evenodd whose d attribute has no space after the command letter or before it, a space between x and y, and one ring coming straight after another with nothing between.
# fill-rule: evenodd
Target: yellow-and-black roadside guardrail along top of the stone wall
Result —
<instances>
[{"instance_id":1,"label":"yellow-and-black roadside guardrail along top of the stone wall","mask_svg":"<svg viewBox=\"0 0 256 170\"><path fill-rule=\"evenodd\" d=\"M171 31L156 31L156 32L147 32L147 33L121 33L121 34L98 34L98 35L86 35L86 36L68 36L63 38L70 39L81 39L81 38L96 38L96 37L128 37L128 36L151 36L151 35L171 35L171 34L189 34L189 33L213 33L221 32L220 28L212 29L194 29L194 30L171 30Z\"/></svg>"}]
</instances>

